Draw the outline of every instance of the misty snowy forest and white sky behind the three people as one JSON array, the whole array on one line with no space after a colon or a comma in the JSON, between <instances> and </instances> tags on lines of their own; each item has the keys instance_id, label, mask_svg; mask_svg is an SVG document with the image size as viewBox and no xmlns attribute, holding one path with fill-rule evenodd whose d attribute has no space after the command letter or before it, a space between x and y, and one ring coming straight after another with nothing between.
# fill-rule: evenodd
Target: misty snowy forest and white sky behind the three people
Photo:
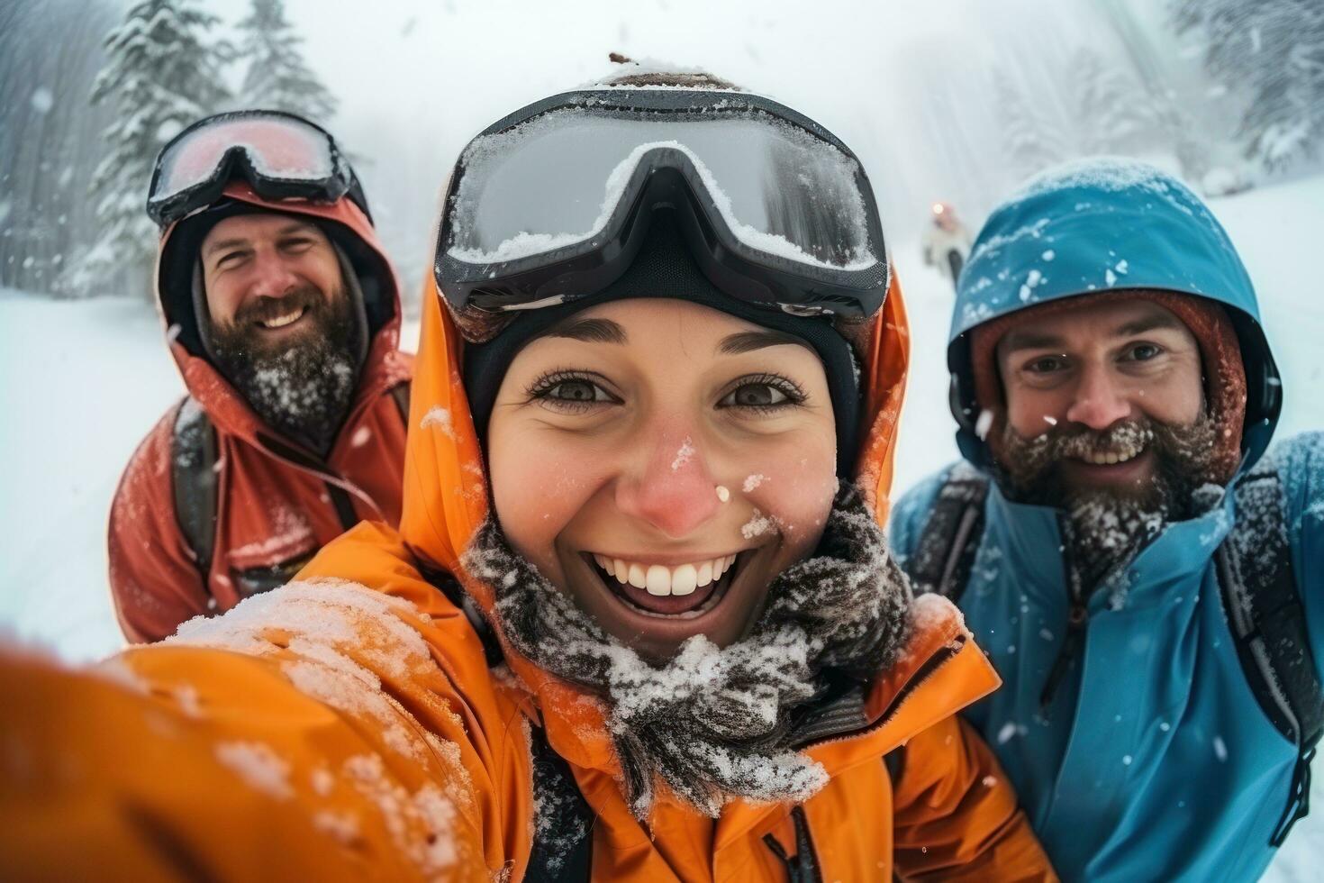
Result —
<instances>
[{"instance_id":1,"label":"misty snowy forest and white sky behind the three people","mask_svg":"<svg viewBox=\"0 0 1324 883\"><path fill-rule=\"evenodd\" d=\"M7 0L0 286L150 303L155 151L200 115L278 105L355 158L413 311L466 140L612 73L609 52L817 118L862 159L892 244L937 200L977 229L1082 155L1143 156L1207 196L1320 168L1317 0Z\"/></svg>"}]
</instances>

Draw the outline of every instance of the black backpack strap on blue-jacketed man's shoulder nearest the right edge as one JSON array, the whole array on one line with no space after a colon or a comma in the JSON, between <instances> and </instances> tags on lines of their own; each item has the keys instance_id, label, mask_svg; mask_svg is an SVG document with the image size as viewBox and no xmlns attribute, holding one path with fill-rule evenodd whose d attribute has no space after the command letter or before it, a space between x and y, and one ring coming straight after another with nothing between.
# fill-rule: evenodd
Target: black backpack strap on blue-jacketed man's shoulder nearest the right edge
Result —
<instances>
[{"instance_id":1,"label":"black backpack strap on blue-jacketed man's shoulder nearest the right edge","mask_svg":"<svg viewBox=\"0 0 1324 883\"><path fill-rule=\"evenodd\" d=\"M1296 588L1282 479L1263 467L1238 479L1233 492L1237 522L1215 553L1223 610L1255 700L1298 752L1287 808L1270 841L1280 846L1309 813L1309 764L1324 733L1324 687Z\"/></svg>"}]
</instances>

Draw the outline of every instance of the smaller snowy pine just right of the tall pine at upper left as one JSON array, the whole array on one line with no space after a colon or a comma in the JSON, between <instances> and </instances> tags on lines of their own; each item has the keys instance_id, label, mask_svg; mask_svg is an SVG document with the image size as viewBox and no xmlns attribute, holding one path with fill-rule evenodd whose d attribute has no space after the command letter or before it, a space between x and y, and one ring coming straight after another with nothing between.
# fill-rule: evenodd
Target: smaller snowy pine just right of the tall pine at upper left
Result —
<instances>
[{"instance_id":1,"label":"smaller snowy pine just right of the tall pine at upper left","mask_svg":"<svg viewBox=\"0 0 1324 883\"><path fill-rule=\"evenodd\" d=\"M319 123L335 114L336 99L303 61L303 38L285 17L285 0L253 0L253 12L238 29L240 57L249 61L245 107L285 110Z\"/></svg>"}]
</instances>

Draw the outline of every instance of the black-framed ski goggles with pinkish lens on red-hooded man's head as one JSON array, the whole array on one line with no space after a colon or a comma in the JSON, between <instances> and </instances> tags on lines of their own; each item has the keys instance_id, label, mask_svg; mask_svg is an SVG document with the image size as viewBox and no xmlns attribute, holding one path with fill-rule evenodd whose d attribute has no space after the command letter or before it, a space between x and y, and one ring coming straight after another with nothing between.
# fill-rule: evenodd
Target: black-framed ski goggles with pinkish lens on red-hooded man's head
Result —
<instances>
[{"instance_id":1,"label":"black-framed ski goggles with pinkish lens on red-hooded man's head","mask_svg":"<svg viewBox=\"0 0 1324 883\"><path fill-rule=\"evenodd\" d=\"M348 195L368 214L363 189L331 135L275 110L217 114L172 138L152 169L147 214L166 228L214 203L238 176L265 200L334 203Z\"/></svg>"}]
</instances>

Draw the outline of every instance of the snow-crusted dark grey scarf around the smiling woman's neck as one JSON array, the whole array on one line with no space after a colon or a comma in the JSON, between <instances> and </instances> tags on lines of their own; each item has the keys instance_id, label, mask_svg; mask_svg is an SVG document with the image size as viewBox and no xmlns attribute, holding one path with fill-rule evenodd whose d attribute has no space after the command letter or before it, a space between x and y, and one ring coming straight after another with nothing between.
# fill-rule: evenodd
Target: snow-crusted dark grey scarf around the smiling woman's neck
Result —
<instances>
[{"instance_id":1,"label":"snow-crusted dark grey scarf around the smiling woman's neck","mask_svg":"<svg viewBox=\"0 0 1324 883\"><path fill-rule=\"evenodd\" d=\"M496 620L522 655L605 700L632 812L655 784L716 817L736 797L802 801L826 773L794 751L793 723L816 699L888 669L910 633L910 584L858 492L846 483L813 557L768 588L751 634L727 647L703 635L651 665L609 635L506 543L489 520L465 567L496 590Z\"/></svg>"}]
</instances>

